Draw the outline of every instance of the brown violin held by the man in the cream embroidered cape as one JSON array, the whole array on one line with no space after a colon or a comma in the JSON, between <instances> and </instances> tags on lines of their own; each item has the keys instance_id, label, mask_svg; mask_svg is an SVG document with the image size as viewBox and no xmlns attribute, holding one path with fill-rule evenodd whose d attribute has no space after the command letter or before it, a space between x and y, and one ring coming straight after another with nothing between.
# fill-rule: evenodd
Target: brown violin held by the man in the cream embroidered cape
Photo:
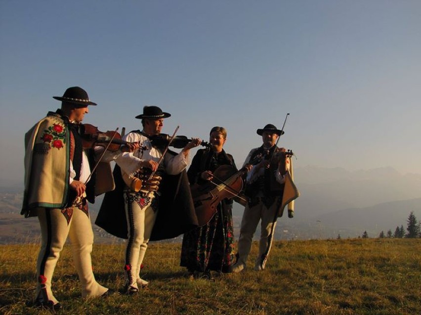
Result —
<instances>
[{"instance_id":1,"label":"brown violin held by the man in the cream embroidered cape","mask_svg":"<svg viewBox=\"0 0 421 315\"><path fill-rule=\"evenodd\" d=\"M115 152L120 149L121 145L129 143L122 140L122 136L117 131L102 132L98 130L98 127L91 124L81 125L81 137L84 149L91 149L97 145L106 147L111 140L107 150Z\"/></svg>"}]
</instances>

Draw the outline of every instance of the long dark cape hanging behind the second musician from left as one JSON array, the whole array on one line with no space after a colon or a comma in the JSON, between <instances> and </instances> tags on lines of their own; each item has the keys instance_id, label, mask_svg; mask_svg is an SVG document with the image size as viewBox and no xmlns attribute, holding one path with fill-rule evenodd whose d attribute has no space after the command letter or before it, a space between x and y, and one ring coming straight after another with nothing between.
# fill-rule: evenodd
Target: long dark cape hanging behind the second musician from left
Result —
<instances>
[{"instance_id":1,"label":"long dark cape hanging behind the second musician from left","mask_svg":"<svg viewBox=\"0 0 421 315\"><path fill-rule=\"evenodd\" d=\"M118 165L113 175L116 188L105 194L95 224L114 236L127 239L125 183ZM198 227L186 171L179 175L164 174L159 192L159 210L150 241L172 239Z\"/></svg>"}]
</instances>

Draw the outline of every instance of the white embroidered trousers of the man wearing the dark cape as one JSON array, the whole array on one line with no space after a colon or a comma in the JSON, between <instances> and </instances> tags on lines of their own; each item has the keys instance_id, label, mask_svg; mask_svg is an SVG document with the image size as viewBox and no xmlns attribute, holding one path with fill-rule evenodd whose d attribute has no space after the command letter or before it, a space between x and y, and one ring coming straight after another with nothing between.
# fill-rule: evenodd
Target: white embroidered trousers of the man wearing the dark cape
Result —
<instances>
[{"instance_id":1,"label":"white embroidered trousers of the man wearing the dark cape","mask_svg":"<svg viewBox=\"0 0 421 315\"><path fill-rule=\"evenodd\" d=\"M126 244L126 286L138 288L140 266L145 257L158 211L154 211L154 193L147 197L136 192L125 192L125 210L127 219Z\"/></svg>"}]
</instances>

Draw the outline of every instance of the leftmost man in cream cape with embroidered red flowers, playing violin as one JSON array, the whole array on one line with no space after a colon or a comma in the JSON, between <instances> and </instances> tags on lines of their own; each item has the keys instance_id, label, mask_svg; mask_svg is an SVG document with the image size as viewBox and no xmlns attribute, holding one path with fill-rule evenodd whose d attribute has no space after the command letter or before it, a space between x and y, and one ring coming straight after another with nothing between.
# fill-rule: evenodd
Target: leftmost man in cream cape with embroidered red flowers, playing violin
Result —
<instances>
[{"instance_id":1,"label":"leftmost man in cream cape with embroidered red flowers, playing violin","mask_svg":"<svg viewBox=\"0 0 421 315\"><path fill-rule=\"evenodd\" d=\"M84 298L108 294L92 273L93 232L86 200L95 199L95 152L84 150L80 124L88 105L96 105L80 87L68 88L61 108L48 112L25 135L25 191L21 213L38 216L42 245L37 261L36 305L58 310L51 280L63 245L69 236ZM138 145L129 145L129 150ZM118 151L111 158L122 152ZM109 168L109 166L108 166ZM105 174L107 176L107 174ZM89 180L90 178L90 180ZM113 186L111 169L108 180ZM112 187L110 188L112 189Z\"/></svg>"}]
</instances>

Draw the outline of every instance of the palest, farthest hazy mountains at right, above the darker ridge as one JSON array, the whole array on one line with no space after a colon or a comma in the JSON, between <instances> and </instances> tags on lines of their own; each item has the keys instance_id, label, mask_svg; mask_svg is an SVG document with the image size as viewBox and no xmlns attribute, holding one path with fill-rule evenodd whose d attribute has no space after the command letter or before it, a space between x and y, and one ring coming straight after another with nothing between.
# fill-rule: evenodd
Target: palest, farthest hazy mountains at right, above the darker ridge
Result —
<instances>
[{"instance_id":1,"label":"palest, farthest hazy mountains at right, above the darker ridge","mask_svg":"<svg viewBox=\"0 0 421 315\"><path fill-rule=\"evenodd\" d=\"M421 198L421 175L401 175L393 168L349 172L308 166L295 169L295 183L301 193L296 201L298 220L348 208ZM300 210L304 215L298 216Z\"/></svg>"}]
</instances>

